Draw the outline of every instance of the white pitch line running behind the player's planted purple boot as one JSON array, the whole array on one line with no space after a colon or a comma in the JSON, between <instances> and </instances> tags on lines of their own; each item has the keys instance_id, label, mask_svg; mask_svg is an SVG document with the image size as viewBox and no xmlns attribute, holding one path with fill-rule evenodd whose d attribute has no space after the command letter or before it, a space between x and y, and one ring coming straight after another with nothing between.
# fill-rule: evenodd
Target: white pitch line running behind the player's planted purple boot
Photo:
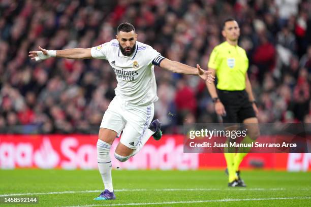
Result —
<instances>
[{"instance_id":1,"label":"white pitch line running behind the player's planted purple boot","mask_svg":"<svg viewBox=\"0 0 311 207\"><path fill-rule=\"evenodd\" d=\"M216 191L216 190L231 190L223 188L172 188L172 189L117 189L115 192L126 192L126 191ZM238 188L234 190L250 190L250 191L264 191L264 190L285 190L284 188ZM85 191L59 191L59 192L38 192L38 193L13 193L13 194L2 194L0 197L6 196L19 196L19 195L51 195L51 194L70 194L70 193L96 193L101 190L85 190Z\"/></svg>"}]
</instances>

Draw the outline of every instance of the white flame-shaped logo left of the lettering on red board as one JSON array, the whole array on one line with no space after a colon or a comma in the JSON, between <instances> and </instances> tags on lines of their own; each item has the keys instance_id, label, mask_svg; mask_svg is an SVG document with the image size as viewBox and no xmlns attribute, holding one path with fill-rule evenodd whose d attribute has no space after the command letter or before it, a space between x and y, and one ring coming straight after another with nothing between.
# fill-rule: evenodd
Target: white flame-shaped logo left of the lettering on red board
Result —
<instances>
[{"instance_id":1,"label":"white flame-shaped logo left of the lettering on red board","mask_svg":"<svg viewBox=\"0 0 311 207\"><path fill-rule=\"evenodd\" d=\"M53 168L57 166L59 155L55 152L47 137L43 138L42 145L34 153L34 162L40 168Z\"/></svg>"}]
</instances>

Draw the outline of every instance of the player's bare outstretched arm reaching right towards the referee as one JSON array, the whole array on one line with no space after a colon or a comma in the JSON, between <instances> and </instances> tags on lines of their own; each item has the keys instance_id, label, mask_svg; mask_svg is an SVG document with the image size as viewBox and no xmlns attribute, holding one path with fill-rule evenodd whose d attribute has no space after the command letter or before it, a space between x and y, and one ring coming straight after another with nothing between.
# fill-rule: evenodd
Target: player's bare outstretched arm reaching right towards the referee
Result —
<instances>
[{"instance_id":1,"label":"player's bare outstretched arm reaching right towards the referee","mask_svg":"<svg viewBox=\"0 0 311 207\"><path fill-rule=\"evenodd\" d=\"M163 59L160 63L160 67L164 68L165 70L171 71L173 73L185 74L185 75L198 75L203 80L207 81L208 83L212 83L215 77L212 75L210 71L204 71L197 64L197 68L191 67L186 64L182 64L180 62L171 61L169 59Z\"/></svg>"}]
</instances>

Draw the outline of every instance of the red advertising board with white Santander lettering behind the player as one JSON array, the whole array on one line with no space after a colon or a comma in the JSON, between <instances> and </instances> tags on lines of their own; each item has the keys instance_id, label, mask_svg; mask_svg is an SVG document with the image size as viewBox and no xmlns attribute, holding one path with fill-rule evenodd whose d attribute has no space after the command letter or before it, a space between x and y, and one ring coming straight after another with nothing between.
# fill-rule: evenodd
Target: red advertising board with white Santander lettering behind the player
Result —
<instances>
[{"instance_id":1,"label":"red advertising board with white Santander lettering behind the player","mask_svg":"<svg viewBox=\"0 0 311 207\"><path fill-rule=\"evenodd\" d=\"M97 169L97 135L0 135L0 168ZM111 147L114 168L121 169L222 169L223 154L183 153L183 135L163 135L149 139L142 150L126 162L114 158L116 139ZM311 170L311 154L248 154L242 168Z\"/></svg>"}]
</instances>

